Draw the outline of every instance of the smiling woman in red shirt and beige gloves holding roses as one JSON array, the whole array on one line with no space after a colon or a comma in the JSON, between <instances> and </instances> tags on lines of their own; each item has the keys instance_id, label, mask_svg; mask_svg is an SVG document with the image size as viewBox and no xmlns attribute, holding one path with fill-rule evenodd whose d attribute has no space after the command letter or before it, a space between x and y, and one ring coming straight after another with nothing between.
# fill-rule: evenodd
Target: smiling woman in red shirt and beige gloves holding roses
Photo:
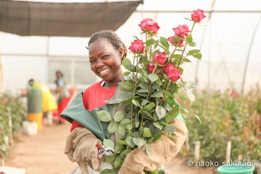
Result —
<instances>
[{"instance_id":1,"label":"smiling woman in red shirt and beige gloves holding roses","mask_svg":"<svg viewBox=\"0 0 261 174\"><path fill-rule=\"evenodd\" d=\"M82 95L79 95L79 102L73 101L71 104L80 108L79 103L82 103L83 107L92 113L92 110L96 108L108 109L103 101L113 97L119 82L123 78L121 62L126 57L127 50L119 37L109 30L100 31L92 35L88 46L90 68L102 81L88 87ZM77 97L74 100L76 101L76 99ZM90 126L86 126L88 128L84 128L77 122L79 120L81 123L84 123L81 119L77 119L84 113L79 111L79 109L73 108L73 106L69 106L68 110L71 108L73 110L72 115L75 114L77 116L62 113L62 115L69 115L69 117L74 118L71 133L66 140L65 154L68 155L72 162L76 161L78 163L83 174L99 173L97 171L112 168L110 163L100 163L97 158L97 146L102 145L100 139L108 137L104 133L106 129L100 133L105 135L99 135L95 130L95 126L89 124ZM84 110L83 107L81 110ZM93 117L97 116L94 115ZM91 122L90 119L92 117L88 119L88 122ZM88 122L86 121L85 123L88 124ZM95 123L93 122L92 124ZM177 138L162 136L157 142L152 142L153 152L151 155L147 155L142 148L134 149L127 154L118 174L143 174L143 170L154 171L175 156L185 141L187 129L184 122L180 119L173 119L171 124L177 127L177 131L174 133L174 135L177 135ZM94 132L96 136L93 134ZM70 173L77 173L77 169Z\"/></svg>"}]
</instances>

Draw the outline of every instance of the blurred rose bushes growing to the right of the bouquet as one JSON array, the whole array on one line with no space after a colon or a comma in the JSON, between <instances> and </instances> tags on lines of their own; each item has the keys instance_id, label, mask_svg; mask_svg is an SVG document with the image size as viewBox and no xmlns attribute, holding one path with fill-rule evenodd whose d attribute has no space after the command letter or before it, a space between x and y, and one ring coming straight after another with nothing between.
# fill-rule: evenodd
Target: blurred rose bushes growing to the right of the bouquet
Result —
<instances>
[{"instance_id":1,"label":"blurred rose bushes growing to the right of the bouquet","mask_svg":"<svg viewBox=\"0 0 261 174\"><path fill-rule=\"evenodd\" d=\"M226 143L231 141L231 160L261 162L261 89L256 88L241 95L233 89L195 90L193 103L180 91L176 96L180 105L198 115L183 115L189 130L190 148L182 148L181 154L193 159L195 141L200 141L198 161L226 159ZM194 159L195 160L195 159Z\"/></svg>"}]
</instances>

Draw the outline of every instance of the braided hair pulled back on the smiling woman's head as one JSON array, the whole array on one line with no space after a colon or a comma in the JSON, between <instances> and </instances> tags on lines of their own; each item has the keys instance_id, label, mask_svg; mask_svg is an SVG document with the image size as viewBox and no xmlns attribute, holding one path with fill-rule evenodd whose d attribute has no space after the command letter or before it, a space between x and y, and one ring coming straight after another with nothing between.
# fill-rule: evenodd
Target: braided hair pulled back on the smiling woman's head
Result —
<instances>
[{"instance_id":1,"label":"braided hair pulled back on the smiling woman's head","mask_svg":"<svg viewBox=\"0 0 261 174\"><path fill-rule=\"evenodd\" d=\"M108 41L115 47L115 50L118 50L119 48L123 48L124 55L123 57L127 56L127 48L123 44L122 40L119 38L118 35L116 35L115 32L112 30L102 30L99 32L94 33L89 40L88 46L94 41L96 41L99 38L106 38ZM87 47L86 47L87 48ZM123 59L122 57L122 59Z\"/></svg>"}]
</instances>

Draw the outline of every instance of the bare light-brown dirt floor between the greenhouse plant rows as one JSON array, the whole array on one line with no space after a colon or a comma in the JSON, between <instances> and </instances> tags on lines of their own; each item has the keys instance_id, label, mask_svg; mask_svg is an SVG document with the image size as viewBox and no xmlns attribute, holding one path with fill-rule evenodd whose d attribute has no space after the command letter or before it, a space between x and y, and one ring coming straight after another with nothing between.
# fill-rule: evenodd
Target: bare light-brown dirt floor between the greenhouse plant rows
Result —
<instances>
[{"instance_id":1,"label":"bare light-brown dirt floor between the greenhouse plant rows","mask_svg":"<svg viewBox=\"0 0 261 174\"><path fill-rule=\"evenodd\" d=\"M77 166L64 154L70 123L45 126L36 136L20 133L5 166L25 168L26 174L66 174ZM214 168L188 166L179 156L165 164L169 174L212 174Z\"/></svg>"}]
</instances>

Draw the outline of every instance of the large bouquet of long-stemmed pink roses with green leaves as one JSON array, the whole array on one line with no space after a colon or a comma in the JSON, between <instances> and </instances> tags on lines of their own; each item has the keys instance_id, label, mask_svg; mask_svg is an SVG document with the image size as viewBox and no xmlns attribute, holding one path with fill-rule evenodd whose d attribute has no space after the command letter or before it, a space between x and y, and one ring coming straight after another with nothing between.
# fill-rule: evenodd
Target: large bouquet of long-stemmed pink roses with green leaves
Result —
<instances>
[{"instance_id":1,"label":"large bouquet of long-stemmed pink roses with green leaves","mask_svg":"<svg viewBox=\"0 0 261 174\"><path fill-rule=\"evenodd\" d=\"M190 57L202 57L200 50L186 51L186 47L196 46L191 32L204 17L203 10L194 10L191 19L188 19L193 21L192 28L179 25L173 28L173 36L168 38L157 35L160 26L152 19L146 18L138 25L141 33L146 35L146 40L136 37L129 47L133 62L123 59L127 71L120 89L129 93L107 101L109 104L125 103L127 106L124 111L116 112L113 119L110 119L109 113L104 114L106 111L97 111L100 120L111 121L108 132L113 134L117 131L123 137L117 140L116 146L111 140L104 140L104 145L113 147L115 153L105 159L106 162L111 162L113 169L105 169L101 174L117 173L126 154L136 147L143 146L146 153L151 154L150 142L157 141L162 135L175 138L172 135L175 126L168 123L179 113L195 115L179 106L175 94L184 88L191 102L195 99L188 89L196 84L182 80L181 66L190 62Z\"/></svg>"}]
</instances>

